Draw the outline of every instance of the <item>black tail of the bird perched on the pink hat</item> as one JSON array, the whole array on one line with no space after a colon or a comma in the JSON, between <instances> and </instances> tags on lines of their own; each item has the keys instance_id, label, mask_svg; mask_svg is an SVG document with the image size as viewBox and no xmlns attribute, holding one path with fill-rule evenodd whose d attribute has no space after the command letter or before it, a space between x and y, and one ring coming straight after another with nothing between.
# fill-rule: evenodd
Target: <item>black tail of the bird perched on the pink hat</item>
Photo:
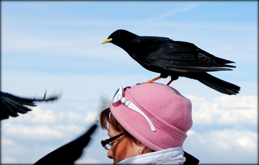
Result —
<instances>
[{"instance_id":1,"label":"black tail of the bird perched on the pink hat","mask_svg":"<svg viewBox=\"0 0 259 165\"><path fill-rule=\"evenodd\" d=\"M187 76L186 76L187 77ZM189 76L188 76L189 77ZM239 86L231 84L227 81L218 79L210 75L209 73L199 73L197 75L192 74L189 78L196 79L203 83L204 85L224 94L233 95L239 93Z\"/></svg>"}]
</instances>

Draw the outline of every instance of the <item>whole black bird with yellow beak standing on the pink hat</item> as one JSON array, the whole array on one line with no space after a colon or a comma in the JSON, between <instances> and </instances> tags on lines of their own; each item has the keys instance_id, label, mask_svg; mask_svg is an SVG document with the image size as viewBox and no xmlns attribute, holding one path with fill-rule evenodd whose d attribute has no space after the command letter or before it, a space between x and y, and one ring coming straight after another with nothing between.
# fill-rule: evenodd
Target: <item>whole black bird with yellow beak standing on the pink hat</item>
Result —
<instances>
[{"instance_id":1,"label":"whole black bird with yellow beak standing on the pink hat","mask_svg":"<svg viewBox=\"0 0 259 165\"><path fill-rule=\"evenodd\" d=\"M239 93L239 86L218 79L206 72L227 71L232 69L228 63L235 63L218 58L201 50L192 43L173 41L166 37L138 36L126 30L116 30L103 41L113 43L125 50L142 67L160 73L160 78L171 76L171 81L180 77L196 79L218 92L232 95Z\"/></svg>"}]
</instances>

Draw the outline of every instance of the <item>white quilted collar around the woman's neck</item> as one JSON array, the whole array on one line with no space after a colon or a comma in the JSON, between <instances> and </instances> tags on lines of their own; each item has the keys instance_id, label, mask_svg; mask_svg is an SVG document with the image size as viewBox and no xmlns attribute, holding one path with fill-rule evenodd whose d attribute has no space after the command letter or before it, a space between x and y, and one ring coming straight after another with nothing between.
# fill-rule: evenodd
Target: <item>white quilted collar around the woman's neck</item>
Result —
<instances>
[{"instance_id":1,"label":"white quilted collar around the woman's neck","mask_svg":"<svg viewBox=\"0 0 259 165\"><path fill-rule=\"evenodd\" d=\"M145 153L124 159L115 165L121 164L183 164L186 158L183 156L183 147L174 147L160 151Z\"/></svg>"}]
</instances>

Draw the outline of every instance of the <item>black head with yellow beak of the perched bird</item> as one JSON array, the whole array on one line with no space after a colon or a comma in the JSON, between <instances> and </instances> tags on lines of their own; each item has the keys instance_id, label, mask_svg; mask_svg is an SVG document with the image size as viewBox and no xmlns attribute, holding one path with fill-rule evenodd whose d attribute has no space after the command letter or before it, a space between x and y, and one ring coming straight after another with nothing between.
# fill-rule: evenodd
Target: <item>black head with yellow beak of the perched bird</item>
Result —
<instances>
[{"instance_id":1,"label":"black head with yellow beak of the perched bird","mask_svg":"<svg viewBox=\"0 0 259 165\"><path fill-rule=\"evenodd\" d=\"M114 45L120 46L126 43L129 40L132 40L136 37L137 35L126 31L126 30L116 30L115 32L111 33L111 35L105 39L102 44L104 43L113 43Z\"/></svg>"}]
</instances>

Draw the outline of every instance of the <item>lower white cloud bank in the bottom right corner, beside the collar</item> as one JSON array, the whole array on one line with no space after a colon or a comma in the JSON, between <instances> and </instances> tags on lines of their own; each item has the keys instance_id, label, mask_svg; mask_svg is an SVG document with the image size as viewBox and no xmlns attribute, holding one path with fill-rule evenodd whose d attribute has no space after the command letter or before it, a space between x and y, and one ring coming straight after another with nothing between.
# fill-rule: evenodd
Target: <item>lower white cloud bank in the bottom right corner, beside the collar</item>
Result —
<instances>
[{"instance_id":1,"label":"lower white cloud bank in the bottom right corner, beside the collar","mask_svg":"<svg viewBox=\"0 0 259 165\"><path fill-rule=\"evenodd\" d=\"M210 161L200 159L200 163L256 163L257 161L257 132L224 129L198 133L190 130L187 135L184 150L194 156L202 152L205 157L210 158ZM228 160L229 157L232 159ZM248 158L248 162L244 162L243 158Z\"/></svg>"}]
</instances>

